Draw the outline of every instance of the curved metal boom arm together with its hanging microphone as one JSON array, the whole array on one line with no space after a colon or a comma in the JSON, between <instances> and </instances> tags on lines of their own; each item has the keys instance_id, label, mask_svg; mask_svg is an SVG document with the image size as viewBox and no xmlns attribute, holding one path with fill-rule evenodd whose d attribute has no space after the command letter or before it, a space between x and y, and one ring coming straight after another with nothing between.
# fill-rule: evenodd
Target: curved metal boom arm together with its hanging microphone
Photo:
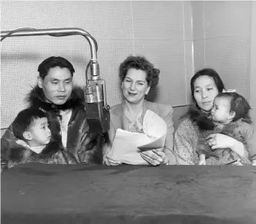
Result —
<instances>
[{"instance_id":1,"label":"curved metal boom arm together with its hanging microphone","mask_svg":"<svg viewBox=\"0 0 256 224\"><path fill-rule=\"evenodd\" d=\"M98 45L96 39L89 32L81 28L19 28L13 31L2 31L1 42L8 37L50 35L54 37L68 35L83 35L89 42L91 59L86 66L86 86L84 87L86 99L86 117L89 119L91 129L99 132L106 132L109 129L109 105L106 103L106 82L99 79L99 63L97 60ZM90 68L91 77L87 72Z\"/></svg>"}]
</instances>

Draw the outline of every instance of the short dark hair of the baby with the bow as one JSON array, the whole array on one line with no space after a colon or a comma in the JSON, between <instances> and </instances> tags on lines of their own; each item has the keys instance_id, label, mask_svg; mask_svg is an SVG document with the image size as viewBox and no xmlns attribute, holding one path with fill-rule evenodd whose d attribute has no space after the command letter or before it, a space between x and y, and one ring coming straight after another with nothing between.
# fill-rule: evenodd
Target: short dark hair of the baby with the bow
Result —
<instances>
[{"instance_id":1,"label":"short dark hair of the baby with the bow","mask_svg":"<svg viewBox=\"0 0 256 224\"><path fill-rule=\"evenodd\" d=\"M249 111L251 106L248 101L237 92L221 92L216 98L227 99L230 102L230 112L235 112L233 122L243 119L244 122L251 124L251 117Z\"/></svg>"}]
</instances>

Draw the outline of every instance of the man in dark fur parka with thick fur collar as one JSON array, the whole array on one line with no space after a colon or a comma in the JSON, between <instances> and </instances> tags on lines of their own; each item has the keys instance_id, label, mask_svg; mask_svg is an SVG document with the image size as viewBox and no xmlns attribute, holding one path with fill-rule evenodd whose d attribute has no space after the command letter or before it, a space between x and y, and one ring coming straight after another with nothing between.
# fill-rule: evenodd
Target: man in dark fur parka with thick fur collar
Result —
<instances>
[{"instance_id":1,"label":"man in dark fur parka with thick fur collar","mask_svg":"<svg viewBox=\"0 0 256 224\"><path fill-rule=\"evenodd\" d=\"M102 163L103 136L89 130L83 89L72 85L75 72L72 64L62 57L52 56L39 65L38 72L38 85L29 92L27 102L46 112L52 142L62 145L65 159L56 163ZM10 125L1 139L2 167L8 167L9 150L20 149L18 140ZM40 161L48 163L51 159L47 155Z\"/></svg>"}]
</instances>

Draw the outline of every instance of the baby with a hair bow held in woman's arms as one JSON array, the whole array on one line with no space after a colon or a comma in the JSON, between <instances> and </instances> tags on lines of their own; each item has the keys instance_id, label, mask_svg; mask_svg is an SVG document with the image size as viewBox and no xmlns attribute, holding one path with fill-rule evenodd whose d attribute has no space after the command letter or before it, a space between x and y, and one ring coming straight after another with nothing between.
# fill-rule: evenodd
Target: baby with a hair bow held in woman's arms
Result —
<instances>
[{"instance_id":1,"label":"baby with a hair bow held in woman's arms","mask_svg":"<svg viewBox=\"0 0 256 224\"><path fill-rule=\"evenodd\" d=\"M213 133L228 135L242 142L248 152L248 159L241 159L241 162L256 165L256 152L253 150L254 129L251 125L250 109L248 101L236 92L222 92L215 97L211 115L197 119L200 129L197 142L197 154L200 159L198 165L227 165L240 161L237 153L231 149L211 149L214 142L207 144L205 138Z\"/></svg>"}]
</instances>

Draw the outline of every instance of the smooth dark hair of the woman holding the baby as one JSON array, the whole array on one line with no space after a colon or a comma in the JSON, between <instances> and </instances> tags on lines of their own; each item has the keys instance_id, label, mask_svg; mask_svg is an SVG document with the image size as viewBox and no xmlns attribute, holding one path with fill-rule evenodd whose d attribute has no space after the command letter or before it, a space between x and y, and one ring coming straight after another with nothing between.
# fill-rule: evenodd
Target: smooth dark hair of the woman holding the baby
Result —
<instances>
[{"instance_id":1,"label":"smooth dark hair of the woman holding the baby","mask_svg":"<svg viewBox=\"0 0 256 224\"><path fill-rule=\"evenodd\" d=\"M194 102L196 102L196 100L194 99L194 82L196 82L197 78L204 75L207 75L214 79L214 83L217 87L218 92L222 92L222 90L225 89L224 83L222 82L220 75L218 75L214 69L201 69L198 72L196 72L196 74L194 74L194 76L190 80L191 95Z\"/></svg>"}]
</instances>

